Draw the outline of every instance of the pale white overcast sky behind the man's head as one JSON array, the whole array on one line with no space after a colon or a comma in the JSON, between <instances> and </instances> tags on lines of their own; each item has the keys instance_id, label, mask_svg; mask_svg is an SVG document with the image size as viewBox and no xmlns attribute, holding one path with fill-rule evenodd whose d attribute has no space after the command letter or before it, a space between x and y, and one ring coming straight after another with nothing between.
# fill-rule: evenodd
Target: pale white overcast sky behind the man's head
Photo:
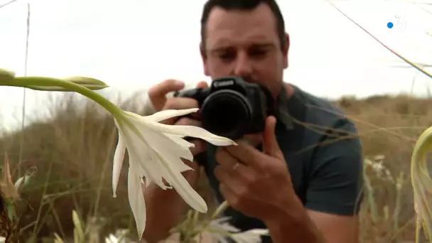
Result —
<instances>
[{"instance_id":1,"label":"pale white overcast sky behind the man's head","mask_svg":"<svg viewBox=\"0 0 432 243\"><path fill-rule=\"evenodd\" d=\"M17 75L24 75L27 2L0 9L0 68ZM209 80L198 51L204 0L29 2L27 75L87 75L124 96L167 78ZM421 4L432 0L332 2L401 55L432 63L432 5ZM411 92L414 77L416 95L432 88L432 80L413 68L392 68L403 63L327 1L279 0L279 5L291 35L286 82L330 98ZM390 21L394 28L387 28ZM42 110L47 94L28 90L26 114ZM3 126L19 123L22 100L23 89L0 87Z\"/></svg>"}]
</instances>

